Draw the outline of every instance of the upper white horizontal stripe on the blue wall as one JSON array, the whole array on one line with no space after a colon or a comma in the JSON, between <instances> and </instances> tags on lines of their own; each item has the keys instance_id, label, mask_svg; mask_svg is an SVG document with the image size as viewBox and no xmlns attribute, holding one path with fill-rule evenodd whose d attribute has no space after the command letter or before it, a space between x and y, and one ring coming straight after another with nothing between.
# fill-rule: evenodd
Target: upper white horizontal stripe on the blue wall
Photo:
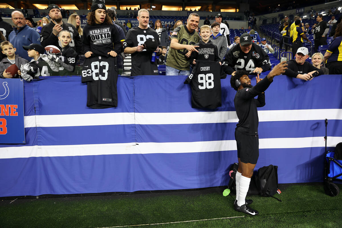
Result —
<instances>
[{"instance_id":1,"label":"upper white horizontal stripe on the blue wall","mask_svg":"<svg viewBox=\"0 0 342 228\"><path fill-rule=\"evenodd\" d=\"M342 120L342 109L301 109L258 111L259 121ZM237 123L235 111L161 112L161 113L98 113L73 115L25 116L25 128L59 126L93 126L116 124L196 124ZM36 120L35 120L36 117ZM37 122L36 122L37 121Z\"/></svg>"}]
</instances>

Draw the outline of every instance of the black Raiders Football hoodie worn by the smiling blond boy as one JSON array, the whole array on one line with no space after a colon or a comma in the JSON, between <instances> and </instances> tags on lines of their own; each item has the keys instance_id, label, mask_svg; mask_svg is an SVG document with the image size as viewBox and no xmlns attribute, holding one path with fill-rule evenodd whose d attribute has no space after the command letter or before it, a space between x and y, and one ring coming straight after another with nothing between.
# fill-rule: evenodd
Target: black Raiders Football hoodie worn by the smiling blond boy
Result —
<instances>
[{"instance_id":1,"label":"black Raiders Football hoodie worn by the smiling blond boy","mask_svg":"<svg viewBox=\"0 0 342 228\"><path fill-rule=\"evenodd\" d=\"M203 41L199 41L195 44L195 46L199 46L196 48L198 52L192 52L190 57L190 66L193 68L194 59L197 60L209 60L209 61L218 61L220 62L221 59L219 57L219 51L217 49L217 46L211 42L210 40L205 43Z\"/></svg>"}]
</instances>

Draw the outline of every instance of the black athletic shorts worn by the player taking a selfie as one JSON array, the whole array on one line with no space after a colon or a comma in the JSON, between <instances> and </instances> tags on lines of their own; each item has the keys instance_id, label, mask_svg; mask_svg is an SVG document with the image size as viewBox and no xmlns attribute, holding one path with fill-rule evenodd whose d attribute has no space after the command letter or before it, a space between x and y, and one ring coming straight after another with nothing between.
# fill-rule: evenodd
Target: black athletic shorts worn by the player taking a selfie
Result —
<instances>
[{"instance_id":1,"label":"black athletic shorts worn by the player taking a selfie","mask_svg":"<svg viewBox=\"0 0 342 228\"><path fill-rule=\"evenodd\" d=\"M259 136L245 135L235 130L237 157L241 162L257 164L259 158Z\"/></svg>"}]
</instances>

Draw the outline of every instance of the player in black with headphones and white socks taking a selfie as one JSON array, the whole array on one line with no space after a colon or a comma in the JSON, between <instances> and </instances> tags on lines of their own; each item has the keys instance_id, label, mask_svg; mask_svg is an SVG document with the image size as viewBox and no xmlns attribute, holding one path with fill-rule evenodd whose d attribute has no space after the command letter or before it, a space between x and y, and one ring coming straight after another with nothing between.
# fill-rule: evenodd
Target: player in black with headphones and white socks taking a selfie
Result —
<instances>
[{"instance_id":1,"label":"player in black with headphones and white socks taking a selfie","mask_svg":"<svg viewBox=\"0 0 342 228\"><path fill-rule=\"evenodd\" d=\"M248 215L257 215L258 211L247 206L252 200L246 200L253 170L259 158L259 136L258 136L258 110L257 107L265 105L264 91L273 81L273 78L287 69L285 61L275 66L264 79L256 77L257 84L251 85L248 77L249 72L238 70L231 77L231 86L235 89L234 106L239 122L235 128L235 140L237 146L237 157L239 167L236 172L236 200L234 201L235 211ZM254 99L258 96L258 99Z\"/></svg>"}]
</instances>

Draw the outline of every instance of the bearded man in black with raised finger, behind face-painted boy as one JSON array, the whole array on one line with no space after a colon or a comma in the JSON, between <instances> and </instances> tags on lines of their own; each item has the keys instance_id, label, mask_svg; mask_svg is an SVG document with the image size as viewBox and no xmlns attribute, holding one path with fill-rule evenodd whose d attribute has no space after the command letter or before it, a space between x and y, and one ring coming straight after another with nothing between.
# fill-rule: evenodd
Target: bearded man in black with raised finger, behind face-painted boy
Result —
<instances>
[{"instance_id":1,"label":"bearded man in black with raised finger, behind face-painted boy","mask_svg":"<svg viewBox=\"0 0 342 228\"><path fill-rule=\"evenodd\" d=\"M40 33L40 42L43 47L48 45L55 45L58 48L62 49L62 45L60 41L58 41L58 34L62 30L68 30L71 33L70 47L74 48L77 54L81 55L82 52L82 41L77 32L77 29L72 24L66 23L62 21L62 14L58 5L51 4L48 7L49 16L51 18L51 22L44 27L42 27Z\"/></svg>"}]
</instances>

